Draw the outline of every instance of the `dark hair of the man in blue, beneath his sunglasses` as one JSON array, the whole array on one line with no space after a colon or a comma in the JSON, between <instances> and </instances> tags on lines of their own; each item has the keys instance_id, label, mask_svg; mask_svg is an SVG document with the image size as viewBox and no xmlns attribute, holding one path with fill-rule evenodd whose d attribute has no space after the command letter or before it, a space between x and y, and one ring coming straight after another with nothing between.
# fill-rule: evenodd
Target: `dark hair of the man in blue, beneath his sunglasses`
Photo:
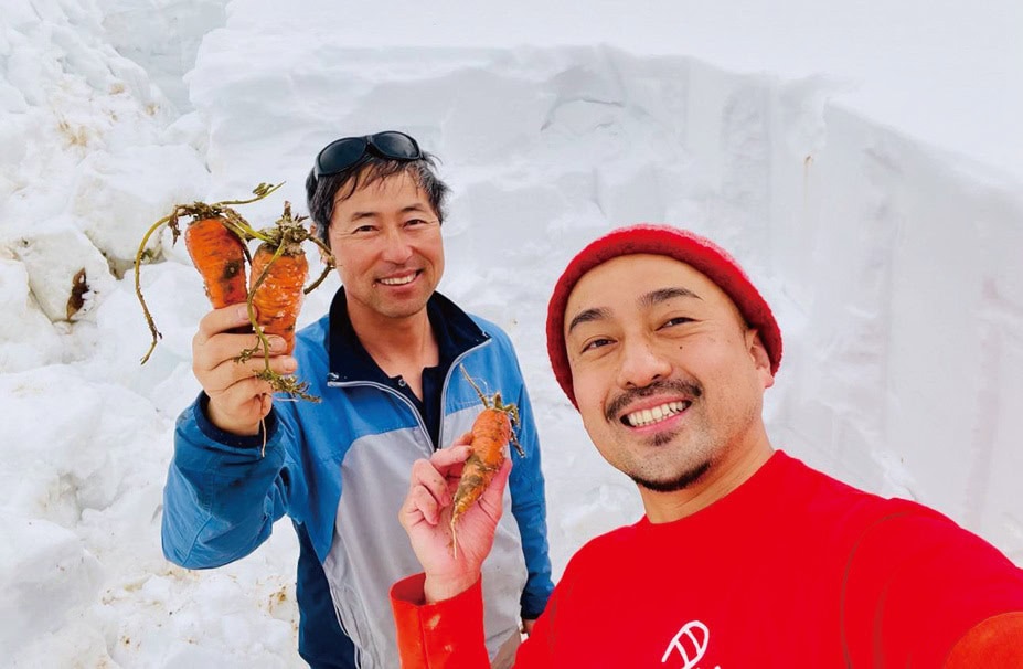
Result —
<instances>
[{"instance_id":1,"label":"dark hair of the man in blue, beneath his sunglasses","mask_svg":"<svg viewBox=\"0 0 1023 669\"><path fill-rule=\"evenodd\" d=\"M360 188L402 172L416 180L416 185L426 193L437 219L444 223L444 210L450 189L437 176L436 169L437 159L431 153L424 152L417 160L393 160L366 152L355 164L335 174L326 174L317 179L310 170L306 177L306 205L309 216L316 223L317 236L324 244L329 244L327 233L333 217L338 191L344 189L342 199L348 199Z\"/></svg>"}]
</instances>

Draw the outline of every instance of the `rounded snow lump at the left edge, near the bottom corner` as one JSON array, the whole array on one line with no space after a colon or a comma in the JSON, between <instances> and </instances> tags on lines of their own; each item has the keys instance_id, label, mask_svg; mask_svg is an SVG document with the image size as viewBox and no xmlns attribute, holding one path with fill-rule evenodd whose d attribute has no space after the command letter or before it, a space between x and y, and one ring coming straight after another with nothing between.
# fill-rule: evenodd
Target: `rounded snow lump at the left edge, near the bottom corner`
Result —
<instances>
[{"instance_id":1,"label":"rounded snow lump at the left edge, near the bottom corner","mask_svg":"<svg viewBox=\"0 0 1023 669\"><path fill-rule=\"evenodd\" d=\"M74 532L45 520L0 509L0 648L10 657L95 601L103 569Z\"/></svg>"}]
</instances>

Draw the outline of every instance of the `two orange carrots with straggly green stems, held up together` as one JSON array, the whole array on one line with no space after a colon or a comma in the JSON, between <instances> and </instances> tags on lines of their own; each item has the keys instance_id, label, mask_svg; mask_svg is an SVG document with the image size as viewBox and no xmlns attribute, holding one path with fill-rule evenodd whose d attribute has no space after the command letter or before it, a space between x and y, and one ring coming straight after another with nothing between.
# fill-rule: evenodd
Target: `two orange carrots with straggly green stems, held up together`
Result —
<instances>
[{"instance_id":1,"label":"two orange carrots with straggly green stems, held up together","mask_svg":"<svg viewBox=\"0 0 1023 669\"><path fill-rule=\"evenodd\" d=\"M243 350L237 361L244 362L262 353L266 367L256 374L259 379L268 382L275 391L290 393L303 400L319 401L319 397L306 392L308 383L299 382L295 376L281 376L270 369L267 336L275 334L284 339L287 353L295 348L295 323L302 298L319 286L333 268L330 248L302 225L305 216L291 215L289 202L285 202L284 214L273 227L258 231L232 209L234 205L262 200L281 185L260 183L253 190L254 198L248 200L177 204L169 215L146 231L135 256L135 293L142 305L146 322L152 333L152 343L142 357L142 364L149 360L157 340L162 337L142 297L140 268L146 256L146 246L150 237L164 225L171 230L173 242L177 242L181 235L180 221L188 219L184 244L192 263L202 276L210 302L217 309L239 302L246 302L248 307L248 319L257 343ZM259 245L256 253L251 254L248 243L254 240L258 240ZM301 245L307 241L320 248L324 267L316 282L303 287L309 274L309 264ZM251 268L248 276L246 266Z\"/></svg>"}]
</instances>

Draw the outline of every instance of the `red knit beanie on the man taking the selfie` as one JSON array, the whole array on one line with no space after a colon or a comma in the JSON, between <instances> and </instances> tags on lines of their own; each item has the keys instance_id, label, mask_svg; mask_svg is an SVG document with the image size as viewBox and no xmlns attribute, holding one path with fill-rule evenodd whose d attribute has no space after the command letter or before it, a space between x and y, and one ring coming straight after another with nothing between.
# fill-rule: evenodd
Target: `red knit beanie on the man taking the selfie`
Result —
<instances>
[{"instance_id":1,"label":"red knit beanie on the man taking the selfie","mask_svg":"<svg viewBox=\"0 0 1023 669\"><path fill-rule=\"evenodd\" d=\"M568 352L565 349L565 306L568 296L583 275L597 265L621 255L639 253L673 257L714 282L732 298L746 322L759 332L770 359L771 374L778 372L778 364L781 362L781 330L778 329L770 307L735 258L714 242L688 230L641 223L619 227L590 243L572 258L554 285L554 294L547 306L547 354L551 357L554 376L576 408L578 404L575 401Z\"/></svg>"}]
</instances>

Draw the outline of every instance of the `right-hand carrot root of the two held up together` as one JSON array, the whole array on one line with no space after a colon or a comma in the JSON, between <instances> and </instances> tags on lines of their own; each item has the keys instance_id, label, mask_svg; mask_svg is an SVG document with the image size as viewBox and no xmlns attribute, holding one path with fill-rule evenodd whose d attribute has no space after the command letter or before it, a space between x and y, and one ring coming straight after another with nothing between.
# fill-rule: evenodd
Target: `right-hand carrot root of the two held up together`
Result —
<instances>
[{"instance_id":1,"label":"right-hand carrot root of the two held up together","mask_svg":"<svg viewBox=\"0 0 1023 669\"><path fill-rule=\"evenodd\" d=\"M298 244L283 244L275 251L264 243L253 256L253 306L264 334L285 340L286 353L295 348L295 322L301 309L302 288L309 274L306 253Z\"/></svg>"}]
</instances>

